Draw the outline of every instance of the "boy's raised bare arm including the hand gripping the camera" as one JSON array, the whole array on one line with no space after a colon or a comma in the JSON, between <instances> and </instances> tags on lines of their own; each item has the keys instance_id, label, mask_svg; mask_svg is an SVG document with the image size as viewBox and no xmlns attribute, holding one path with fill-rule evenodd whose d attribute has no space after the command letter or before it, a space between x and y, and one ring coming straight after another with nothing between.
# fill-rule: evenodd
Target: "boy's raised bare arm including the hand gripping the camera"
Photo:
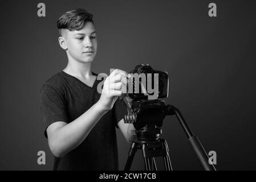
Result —
<instances>
[{"instance_id":1,"label":"boy's raised bare arm including the hand gripping the camera","mask_svg":"<svg viewBox=\"0 0 256 182\"><path fill-rule=\"evenodd\" d=\"M123 77L128 77L128 74L124 71L115 70L105 79L100 100L96 104L68 124L59 121L47 127L48 144L56 157L60 158L78 147L97 121L108 110L112 109L117 98L123 94L120 90L121 85L126 83L123 83ZM124 86L126 87L126 85Z\"/></svg>"}]
</instances>

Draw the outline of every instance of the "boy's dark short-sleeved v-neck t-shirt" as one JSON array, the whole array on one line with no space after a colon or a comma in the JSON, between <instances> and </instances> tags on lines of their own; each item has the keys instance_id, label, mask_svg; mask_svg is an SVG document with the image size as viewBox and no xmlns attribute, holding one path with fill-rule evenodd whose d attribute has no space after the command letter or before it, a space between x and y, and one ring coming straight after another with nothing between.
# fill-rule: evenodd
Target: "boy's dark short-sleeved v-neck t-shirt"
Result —
<instances>
[{"instance_id":1,"label":"boy's dark short-sleeved v-neck t-shirt","mask_svg":"<svg viewBox=\"0 0 256 182\"><path fill-rule=\"evenodd\" d=\"M63 71L45 82L40 101L46 138L46 129L52 123L70 123L99 100L97 85L100 82L96 80L91 87ZM99 119L78 147L62 158L54 157L54 170L118 170L115 126L125 114L124 101L117 99L113 108Z\"/></svg>"}]
</instances>

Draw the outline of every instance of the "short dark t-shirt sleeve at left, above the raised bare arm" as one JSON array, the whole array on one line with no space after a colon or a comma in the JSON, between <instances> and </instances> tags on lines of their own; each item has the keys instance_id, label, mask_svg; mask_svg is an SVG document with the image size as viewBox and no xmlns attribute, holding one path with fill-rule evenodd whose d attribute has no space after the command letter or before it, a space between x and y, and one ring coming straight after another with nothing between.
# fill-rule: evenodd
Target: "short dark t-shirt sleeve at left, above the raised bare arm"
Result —
<instances>
[{"instance_id":1,"label":"short dark t-shirt sleeve at left, above the raised bare arm","mask_svg":"<svg viewBox=\"0 0 256 182\"><path fill-rule=\"evenodd\" d=\"M44 124L44 136L47 138L46 129L54 122L63 121L68 123L66 106L63 96L49 85L43 85L40 91L40 110Z\"/></svg>"}]
</instances>

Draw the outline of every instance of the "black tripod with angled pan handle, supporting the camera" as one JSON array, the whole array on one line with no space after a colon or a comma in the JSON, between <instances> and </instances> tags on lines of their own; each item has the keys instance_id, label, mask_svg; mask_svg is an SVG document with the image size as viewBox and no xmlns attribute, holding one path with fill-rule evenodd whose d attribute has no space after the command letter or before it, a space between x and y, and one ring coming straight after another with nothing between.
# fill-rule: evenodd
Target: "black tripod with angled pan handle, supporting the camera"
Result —
<instances>
[{"instance_id":1,"label":"black tripod with angled pan handle, supporting the camera","mask_svg":"<svg viewBox=\"0 0 256 182\"><path fill-rule=\"evenodd\" d=\"M206 171L216 171L200 140L193 135L180 111L172 105L165 105L160 100L132 101L132 107L128 107L128 114L124 116L124 122L133 123L137 139L131 144L125 171L131 169L137 149L142 150L146 171L157 171L155 157L164 159L165 171L172 170L168 145L165 139L160 139L160 134L162 133L161 126L164 117L174 114L184 129L201 166Z\"/></svg>"}]
</instances>

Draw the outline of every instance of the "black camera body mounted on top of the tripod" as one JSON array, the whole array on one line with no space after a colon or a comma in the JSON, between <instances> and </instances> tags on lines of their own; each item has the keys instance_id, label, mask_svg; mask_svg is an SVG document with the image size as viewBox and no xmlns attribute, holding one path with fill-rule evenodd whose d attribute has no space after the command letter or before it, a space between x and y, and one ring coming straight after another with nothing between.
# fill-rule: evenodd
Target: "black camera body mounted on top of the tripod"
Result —
<instances>
[{"instance_id":1,"label":"black camera body mounted on top of the tripod","mask_svg":"<svg viewBox=\"0 0 256 182\"><path fill-rule=\"evenodd\" d=\"M169 78L167 72L156 71L149 64L140 64L129 72L129 75L132 75L132 93L129 92L128 95L133 100L148 100L150 97L155 100L168 97ZM136 92L136 88L139 89L137 90L139 92ZM152 89L153 93L149 92Z\"/></svg>"}]
</instances>

